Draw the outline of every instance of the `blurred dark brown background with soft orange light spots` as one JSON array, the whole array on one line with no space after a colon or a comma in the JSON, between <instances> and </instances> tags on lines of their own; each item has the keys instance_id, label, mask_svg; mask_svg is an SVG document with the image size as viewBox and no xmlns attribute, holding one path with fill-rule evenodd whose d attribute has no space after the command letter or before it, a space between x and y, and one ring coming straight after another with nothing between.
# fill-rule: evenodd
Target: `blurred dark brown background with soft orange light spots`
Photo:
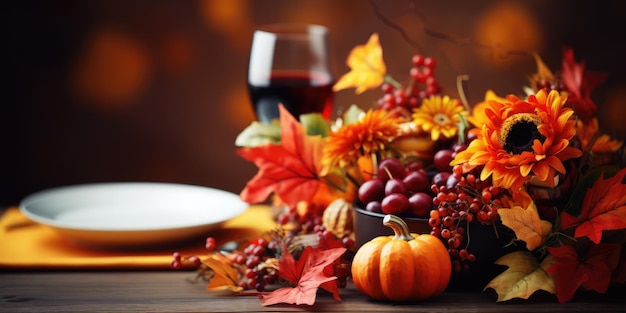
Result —
<instances>
[{"instance_id":1,"label":"blurred dark brown background with soft orange light spots","mask_svg":"<svg viewBox=\"0 0 626 313\"><path fill-rule=\"evenodd\" d=\"M470 102L487 89L522 93L538 51L560 67L564 46L608 71L594 99L603 126L626 134L626 2L374 0L11 1L2 10L0 206L62 185L160 181L238 193L256 168L235 154L254 120L246 93L255 26L330 28L335 75L350 49L380 34L388 72L408 77L435 57L444 92L467 74ZM525 53L517 53L524 51ZM381 93L336 95L336 109Z\"/></svg>"}]
</instances>

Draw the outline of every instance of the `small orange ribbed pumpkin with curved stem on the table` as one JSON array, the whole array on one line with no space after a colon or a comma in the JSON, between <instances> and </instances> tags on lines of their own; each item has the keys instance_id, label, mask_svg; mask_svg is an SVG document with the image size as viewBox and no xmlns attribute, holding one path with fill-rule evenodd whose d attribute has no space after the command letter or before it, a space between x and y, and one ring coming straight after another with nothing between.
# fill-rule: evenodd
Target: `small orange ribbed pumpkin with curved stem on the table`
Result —
<instances>
[{"instance_id":1,"label":"small orange ribbed pumpkin with curved stem on the table","mask_svg":"<svg viewBox=\"0 0 626 313\"><path fill-rule=\"evenodd\" d=\"M452 275L452 262L439 238L410 233L401 218L386 215L394 231L363 244L352 260L356 288L381 301L419 301L441 294Z\"/></svg>"}]
</instances>

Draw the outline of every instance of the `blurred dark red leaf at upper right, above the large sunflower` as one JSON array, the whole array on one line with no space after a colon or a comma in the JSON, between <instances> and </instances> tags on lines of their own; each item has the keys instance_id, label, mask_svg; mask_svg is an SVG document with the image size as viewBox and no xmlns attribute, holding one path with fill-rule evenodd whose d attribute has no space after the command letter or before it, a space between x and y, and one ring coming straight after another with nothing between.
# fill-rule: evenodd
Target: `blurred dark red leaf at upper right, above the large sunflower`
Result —
<instances>
[{"instance_id":1,"label":"blurred dark red leaf at upper right, above the large sunflower","mask_svg":"<svg viewBox=\"0 0 626 313\"><path fill-rule=\"evenodd\" d=\"M606 79L606 73L585 71L585 63L576 63L572 48L563 49L561 79L568 92L567 102L583 120L593 118L598 106L591 99L591 92Z\"/></svg>"}]
</instances>

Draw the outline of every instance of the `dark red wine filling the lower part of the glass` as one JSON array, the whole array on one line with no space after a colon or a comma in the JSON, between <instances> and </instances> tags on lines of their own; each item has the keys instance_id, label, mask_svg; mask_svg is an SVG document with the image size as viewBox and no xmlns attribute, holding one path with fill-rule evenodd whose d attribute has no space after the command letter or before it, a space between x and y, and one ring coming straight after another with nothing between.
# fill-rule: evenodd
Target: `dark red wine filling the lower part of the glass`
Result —
<instances>
[{"instance_id":1,"label":"dark red wine filling the lower part of the glass","mask_svg":"<svg viewBox=\"0 0 626 313\"><path fill-rule=\"evenodd\" d=\"M305 113L321 113L330 119L334 98L332 85L331 77L325 73L275 71L266 84L248 82L248 91L261 122L269 123L279 116L279 103L296 119Z\"/></svg>"}]
</instances>

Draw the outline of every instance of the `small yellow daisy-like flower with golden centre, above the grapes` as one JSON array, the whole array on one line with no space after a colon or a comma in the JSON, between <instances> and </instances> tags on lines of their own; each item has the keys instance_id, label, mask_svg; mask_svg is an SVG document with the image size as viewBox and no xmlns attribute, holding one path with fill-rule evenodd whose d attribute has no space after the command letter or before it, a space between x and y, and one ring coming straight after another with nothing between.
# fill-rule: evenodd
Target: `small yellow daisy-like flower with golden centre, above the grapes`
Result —
<instances>
[{"instance_id":1,"label":"small yellow daisy-like flower with golden centre, above the grapes","mask_svg":"<svg viewBox=\"0 0 626 313\"><path fill-rule=\"evenodd\" d=\"M461 101L449 96L430 96L414 110L413 122L423 131L430 133L433 141L451 139L459 132L460 114L464 111Z\"/></svg>"}]
</instances>

